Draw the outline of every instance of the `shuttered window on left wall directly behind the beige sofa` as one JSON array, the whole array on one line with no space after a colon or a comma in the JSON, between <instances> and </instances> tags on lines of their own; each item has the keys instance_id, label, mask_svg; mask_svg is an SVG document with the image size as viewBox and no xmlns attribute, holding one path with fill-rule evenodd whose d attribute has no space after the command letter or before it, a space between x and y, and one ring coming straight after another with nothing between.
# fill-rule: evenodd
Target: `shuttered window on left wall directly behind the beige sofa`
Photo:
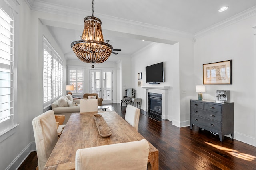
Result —
<instances>
[{"instance_id":1,"label":"shuttered window on left wall directly behind the beige sofa","mask_svg":"<svg viewBox=\"0 0 256 170\"><path fill-rule=\"evenodd\" d=\"M62 96L62 60L45 37L44 44L44 108Z\"/></svg>"}]
</instances>

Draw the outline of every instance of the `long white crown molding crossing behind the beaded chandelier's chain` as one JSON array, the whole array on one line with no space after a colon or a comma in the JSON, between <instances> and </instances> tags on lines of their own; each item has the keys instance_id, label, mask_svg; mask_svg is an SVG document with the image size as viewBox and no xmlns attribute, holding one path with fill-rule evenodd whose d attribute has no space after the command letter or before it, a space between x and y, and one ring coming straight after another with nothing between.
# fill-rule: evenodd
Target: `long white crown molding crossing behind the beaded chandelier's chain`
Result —
<instances>
[{"instance_id":1,"label":"long white crown molding crossing behind the beaded chandelier's chain","mask_svg":"<svg viewBox=\"0 0 256 170\"><path fill-rule=\"evenodd\" d=\"M90 16L91 11L86 11L86 10L80 10L76 8L67 8L66 6L61 6L61 5L56 5L53 3L49 2L42 2L41 0L25 0L28 6L30 7L31 10L35 11L41 11L41 12L48 12L52 14L58 14L58 15L63 15L63 16ZM122 18L117 18L113 16L107 16L99 13L94 12L94 16L96 16L101 19L106 19L108 21L111 21L112 23L117 23L117 24L123 24L125 27L136 27L136 29L143 29L146 31L150 32L161 32L161 33L166 33L168 35L178 35L182 37L189 37L189 38L194 38L193 33L188 33L184 31L179 31L175 29L170 29L166 27L160 27L157 25L150 25L147 23L141 23L137 21L132 21L132 20L125 20Z\"/></svg>"}]
</instances>

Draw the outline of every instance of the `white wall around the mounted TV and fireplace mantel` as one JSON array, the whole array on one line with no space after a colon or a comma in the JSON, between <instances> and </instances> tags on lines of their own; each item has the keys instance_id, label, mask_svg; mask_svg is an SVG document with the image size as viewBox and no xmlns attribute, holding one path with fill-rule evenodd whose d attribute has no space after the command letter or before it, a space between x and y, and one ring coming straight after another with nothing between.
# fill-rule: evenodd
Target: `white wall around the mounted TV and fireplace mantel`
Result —
<instances>
[{"instance_id":1,"label":"white wall around the mounted TV and fireplace mantel","mask_svg":"<svg viewBox=\"0 0 256 170\"><path fill-rule=\"evenodd\" d=\"M173 106L172 102L172 89L173 89L173 79L174 76L179 75L179 71L174 67L177 61L173 55L173 45L170 44L162 44L162 43L152 43L148 45L146 48L138 51L132 56L132 88L136 90L136 98L141 98L141 108L146 110L146 96L144 89L142 87L138 87L138 81L142 81L142 86L169 86L168 90L168 113L166 115L167 119L173 119ZM149 84L146 83L146 70L145 67L164 62L164 82L160 84ZM142 80L138 80L138 73L142 73ZM178 106L179 107L179 106Z\"/></svg>"}]
</instances>

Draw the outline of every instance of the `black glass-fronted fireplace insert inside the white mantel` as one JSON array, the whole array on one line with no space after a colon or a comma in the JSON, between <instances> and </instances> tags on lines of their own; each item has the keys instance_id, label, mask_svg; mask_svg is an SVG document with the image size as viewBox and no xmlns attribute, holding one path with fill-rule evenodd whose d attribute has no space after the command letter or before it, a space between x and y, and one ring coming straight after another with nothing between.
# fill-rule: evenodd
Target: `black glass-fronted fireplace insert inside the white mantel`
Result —
<instances>
[{"instance_id":1,"label":"black glass-fronted fireplace insert inside the white mantel","mask_svg":"<svg viewBox=\"0 0 256 170\"><path fill-rule=\"evenodd\" d=\"M148 93L148 112L162 115L162 94Z\"/></svg>"}]
</instances>

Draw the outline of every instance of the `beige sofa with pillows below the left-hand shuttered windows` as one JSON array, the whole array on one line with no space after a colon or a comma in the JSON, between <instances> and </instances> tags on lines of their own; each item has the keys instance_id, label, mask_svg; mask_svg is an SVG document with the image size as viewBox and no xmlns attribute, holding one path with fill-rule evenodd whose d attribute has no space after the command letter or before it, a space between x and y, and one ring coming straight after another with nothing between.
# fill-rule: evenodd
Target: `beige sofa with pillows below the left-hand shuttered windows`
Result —
<instances>
[{"instance_id":1,"label":"beige sofa with pillows below the left-hand shuttered windows","mask_svg":"<svg viewBox=\"0 0 256 170\"><path fill-rule=\"evenodd\" d=\"M68 97L69 101L67 103L69 104L66 104L65 100L63 100L63 98L65 98L64 96L61 96L58 100L52 103L52 111L54 111L54 114L65 115L65 121L63 124L66 124L68 122L68 119L70 118L70 115L72 113L79 113L79 109L80 109L79 107L80 99L73 100L73 97L71 94L66 95L66 97ZM76 102L78 106L75 106L75 104L72 104L72 102L73 103Z\"/></svg>"}]
</instances>

